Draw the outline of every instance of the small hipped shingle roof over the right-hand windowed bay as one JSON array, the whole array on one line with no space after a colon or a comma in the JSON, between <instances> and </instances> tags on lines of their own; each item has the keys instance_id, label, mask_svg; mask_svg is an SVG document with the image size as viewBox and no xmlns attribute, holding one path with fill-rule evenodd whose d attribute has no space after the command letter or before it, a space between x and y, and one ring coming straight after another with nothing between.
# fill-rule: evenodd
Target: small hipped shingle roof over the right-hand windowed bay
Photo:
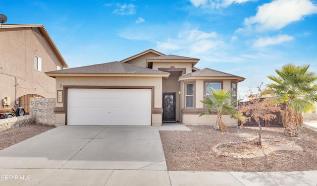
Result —
<instances>
[{"instance_id":1,"label":"small hipped shingle roof over the right-hand windowed bay","mask_svg":"<svg viewBox=\"0 0 317 186\"><path fill-rule=\"evenodd\" d=\"M240 77L237 75L233 75L230 73L221 72L218 70L213 70L210 68L204 68L202 70L194 71L192 73L187 73L179 77L179 80L184 79L202 79L202 78L229 78L229 79L236 79L237 82L245 80L244 77Z\"/></svg>"}]
</instances>

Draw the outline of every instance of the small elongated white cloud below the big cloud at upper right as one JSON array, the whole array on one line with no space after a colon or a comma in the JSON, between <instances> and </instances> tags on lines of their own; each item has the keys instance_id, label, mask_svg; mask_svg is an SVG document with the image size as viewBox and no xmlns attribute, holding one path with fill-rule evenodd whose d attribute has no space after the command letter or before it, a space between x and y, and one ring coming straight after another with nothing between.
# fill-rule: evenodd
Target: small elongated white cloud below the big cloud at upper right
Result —
<instances>
[{"instance_id":1,"label":"small elongated white cloud below the big cloud at upper right","mask_svg":"<svg viewBox=\"0 0 317 186\"><path fill-rule=\"evenodd\" d=\"M266 47L268 45L277 45L283 42L292 41L293 39L294 37L289 35L278 35L275 37L259 38L254 42L253 47Z\"/></svg>"}]
</instances>

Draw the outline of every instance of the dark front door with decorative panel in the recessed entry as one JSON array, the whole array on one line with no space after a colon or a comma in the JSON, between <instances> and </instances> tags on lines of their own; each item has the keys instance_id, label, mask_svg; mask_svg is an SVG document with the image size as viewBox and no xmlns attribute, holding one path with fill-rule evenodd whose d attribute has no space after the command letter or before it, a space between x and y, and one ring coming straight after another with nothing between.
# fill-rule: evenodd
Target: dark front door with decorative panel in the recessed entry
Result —
<instances>
[{"instance_id":1,"label":"dark front door with decorative panel in the recessed entry","mask_svg":"<svg viewBox=\"0 0 317 186\"><path fill-rule=\"evenodd\" d=\"M175 123L175 93L163 93L163 122Z\"/></svg>"}]
</instances>

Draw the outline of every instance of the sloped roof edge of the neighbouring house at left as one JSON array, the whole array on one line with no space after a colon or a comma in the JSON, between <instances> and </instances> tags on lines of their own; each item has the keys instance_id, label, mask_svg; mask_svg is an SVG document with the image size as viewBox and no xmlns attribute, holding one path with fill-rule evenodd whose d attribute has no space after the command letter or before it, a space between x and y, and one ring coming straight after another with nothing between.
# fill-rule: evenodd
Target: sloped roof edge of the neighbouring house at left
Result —
<instances>
[{"instance_id":1,"label":"sloped roof edge of the neighbouring house at left","mask_svg":"<svg viewBox=\"0 0 317 186\"><path fill-rule=\"evenodd\" d=\"M36 32L40 32L39 34L43 35L49 44L51 45L53 51L55 52L58 59L62 62L63 67L68 67L67 63L65 62L64 58L59 53L57 47L55 46L52 38L50 37L49 33L46 31L42 24L2 24L0 25L0 29L5 28L32 28Z\"/></svg>"}]
</instances>

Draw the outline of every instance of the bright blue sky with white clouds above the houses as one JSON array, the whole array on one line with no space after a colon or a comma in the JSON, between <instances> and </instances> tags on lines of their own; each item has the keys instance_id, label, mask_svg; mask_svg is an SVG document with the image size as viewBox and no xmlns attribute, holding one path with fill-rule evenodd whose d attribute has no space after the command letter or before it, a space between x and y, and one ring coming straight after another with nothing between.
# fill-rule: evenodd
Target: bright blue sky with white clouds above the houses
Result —
<instances>
[{"instance_id":1,"label":"bright blue sky with white clouds above the houses","mask_svg":"<svg viewBox=\"0 0 317 186\"><path fill-rule=\"evenodd\" d=\"M150 48L245 77L240 98L283 64L317 71L317 0L0 0L5 24L43 24L69 67Z\"/></svg>"}]
</instances>

